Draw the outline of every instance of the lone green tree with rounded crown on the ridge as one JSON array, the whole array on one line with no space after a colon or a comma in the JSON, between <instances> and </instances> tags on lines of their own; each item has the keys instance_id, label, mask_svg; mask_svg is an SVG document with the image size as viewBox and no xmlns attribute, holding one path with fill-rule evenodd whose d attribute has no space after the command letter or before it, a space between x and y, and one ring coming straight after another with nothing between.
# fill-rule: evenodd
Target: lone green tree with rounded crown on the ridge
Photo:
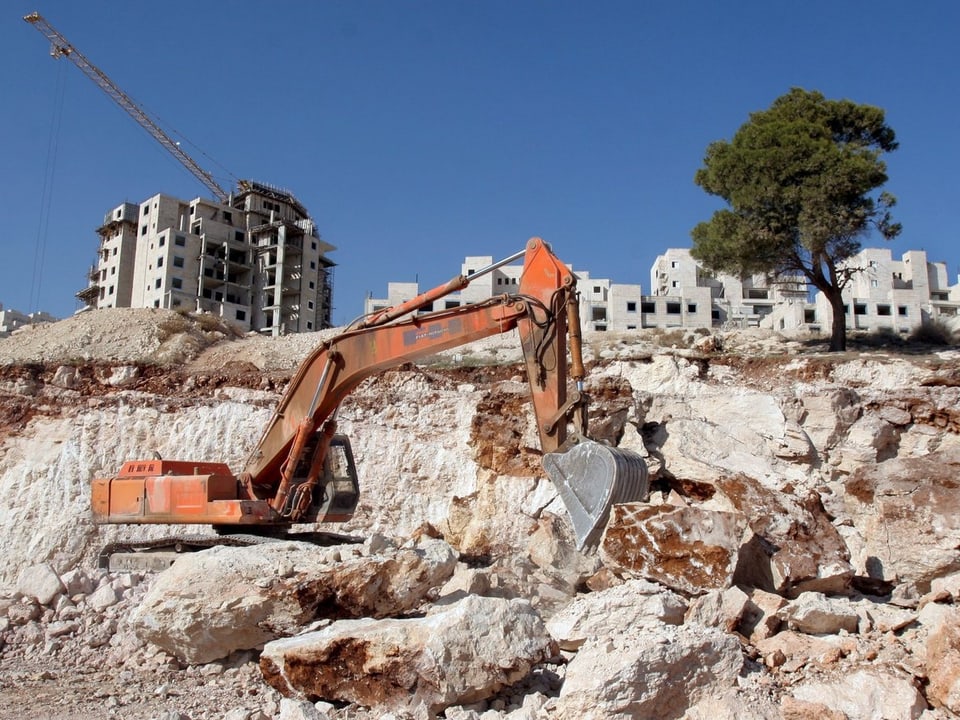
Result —
<instances>
[{"instance_id":1,"label":"lone green tree with rounded crown on the ridge","mask_svg":"<svg viewBox=\"0 0 960 720\"><path fill-rule=\"evenodd\" d=\"M896 148L880 108L793 88L707 147L694 181L728 207L693 229L691 255L741 277L805 276L833 310L830 349L845 350L842 292L861 268L844 261L871 232L900 233L895 198L876 192Z\"/></svg>"}]
</instances>

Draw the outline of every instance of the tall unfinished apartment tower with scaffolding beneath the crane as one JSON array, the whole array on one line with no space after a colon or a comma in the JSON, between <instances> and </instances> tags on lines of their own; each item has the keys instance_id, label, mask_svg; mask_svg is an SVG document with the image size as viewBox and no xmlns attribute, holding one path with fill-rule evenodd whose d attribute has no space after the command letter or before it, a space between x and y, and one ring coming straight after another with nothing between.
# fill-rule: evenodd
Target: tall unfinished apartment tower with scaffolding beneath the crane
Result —
<instances>
[{"instance_id":1,"label":"tall unfinished apartment tower with scaffolding beneath the crane","mask_svg":"<svg viewBox=\"0 0 960 720\"><path fill-rule=\"evenodd\" d=\"M332 324L335 248L286 191L244 180L226 204L157 194L114 208L97 234L86 308L210 312L271 335Z\"/></svg>"}]
</instances>

